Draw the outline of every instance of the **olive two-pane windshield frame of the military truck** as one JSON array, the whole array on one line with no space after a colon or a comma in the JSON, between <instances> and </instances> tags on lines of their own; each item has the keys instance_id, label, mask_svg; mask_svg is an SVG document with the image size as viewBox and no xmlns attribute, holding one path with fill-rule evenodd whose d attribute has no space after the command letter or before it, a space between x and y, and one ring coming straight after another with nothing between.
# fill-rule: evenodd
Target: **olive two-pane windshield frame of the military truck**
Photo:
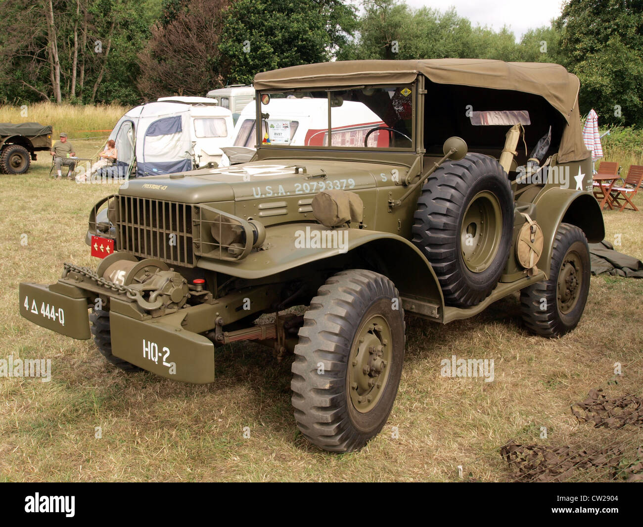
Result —
<instances>
[{"instance_id":1,"label":"olive two-pane windshield frame of the military truck","mask_svg":"<svg viewBox=\"0 0 643 527\"><path fill-rule=\"evenodd\" d=\"M287 150L287 149L296 149L298 151L318 151L318 150L332 150L332 151L341 151L341 152L349 152L349 151L356 151L356 152L372 152L372 153L416 153L416 146L418 142L418 136L417 136L417 111L418 107L420 106L420 95L421 95L421 90L419 89L419 82L418 79L416 78L413 82L410 82L408 84L400 84L399 86L408 86L408 88L412 89L413 91L413 97L412 97L412 122L410 124L410 129L412 131L411 134L411 146L410 147L342 147L338 145L312 145L312 146L305 146L305 145L291 145L291 144L277 144L277 143L262 143L260 138L263 137L262 134L262 119L257 118L258 116L261 115L261 97L264 93L267 94L273 94L273 93L296 93L296 92L306 92L306 91L325 91L327 93L327 110L328 110L328 123L329 127L327 130L327 133L329 134L329 138L332 137L332 120L331 120L331 94L334 91L345 91L347 89L363 89L363 88L390 88L390 86L394 86L393 84L389 83L384 83L384 84L368 84L368 85L361 85L361 86L336 86L332 88L319 88L319 87L303 87L303 88L291 88L291 89L262 89L262 90L257 90L255 92L255 134L257 137L257 145L255 147L257 150L262 149L264 151L278 151L278 150Z\"/></svg>"}]
</instances>

